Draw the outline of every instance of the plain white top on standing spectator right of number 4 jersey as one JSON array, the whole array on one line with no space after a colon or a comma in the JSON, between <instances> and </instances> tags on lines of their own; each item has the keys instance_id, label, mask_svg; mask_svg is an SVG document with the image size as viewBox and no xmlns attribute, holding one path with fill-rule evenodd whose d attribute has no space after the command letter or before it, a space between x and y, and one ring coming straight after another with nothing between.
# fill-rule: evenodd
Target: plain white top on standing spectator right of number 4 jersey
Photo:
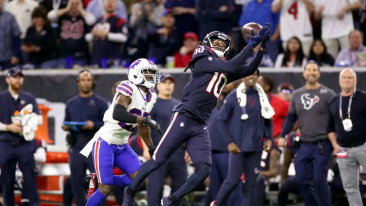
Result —
<instances>
[{"instance_id":1,"label":"plain white top on standing spectator right of number 4 jersey","mask_svg":"<svg viewBox=\"0 0 366 206\"><path fill-rule=\"evenodd\" d=\"M358 0L337 0L337 3L329 0L316 0L315 8L324 7L322 18L322 39L337 39L348 36L354 30L351 12L346 12L342 19L338 13L346 6L358 2Z\"/></svg>"}]
</instances>

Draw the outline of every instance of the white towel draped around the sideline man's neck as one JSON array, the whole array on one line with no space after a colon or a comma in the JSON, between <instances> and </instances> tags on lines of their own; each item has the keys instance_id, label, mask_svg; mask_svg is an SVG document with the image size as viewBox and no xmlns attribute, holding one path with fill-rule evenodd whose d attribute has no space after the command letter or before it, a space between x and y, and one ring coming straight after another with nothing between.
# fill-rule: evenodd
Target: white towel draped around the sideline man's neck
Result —
<instances>
[{"instance_id":1,"label":"white towel draped around the sideline man's neck","mask_svg":"<svg viewBox=\"0 0 366 206\"><path fill-rule=\"evenodd\" d=\"M262 87L259 83L256 83L256 89L259 95L259 102L261 104L261 113L264 119L270 119L273 115L275 115L275 111L269 104L267 95L264 93ZM242 108L242 114L240 119L247 120L249 115L246 110L247 106L247 93L245 83L241 82L241 84L236 89L236 98L238 99L239 106Z\"/></svg>"}]
</instances>

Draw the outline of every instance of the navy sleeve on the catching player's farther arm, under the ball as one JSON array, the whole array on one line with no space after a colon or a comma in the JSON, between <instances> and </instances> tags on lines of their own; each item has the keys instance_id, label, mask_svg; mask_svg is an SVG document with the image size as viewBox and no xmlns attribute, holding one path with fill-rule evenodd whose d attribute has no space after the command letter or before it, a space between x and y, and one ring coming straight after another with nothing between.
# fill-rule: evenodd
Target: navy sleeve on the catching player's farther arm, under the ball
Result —
<instances>
[{"instance_id":1,"label":"navy sleeve on the catching player's farther arm, under the ball","mask_svg":"<svg viewBox=\"0 0 366 206\"><path fill-rule=\"evenodd\" d=\"M259 50L249 64L241 65L235 73L230 74L228 76L228 83L252 75L262 62L264 52L264 50Z\"/></svg>"}]
</instances>

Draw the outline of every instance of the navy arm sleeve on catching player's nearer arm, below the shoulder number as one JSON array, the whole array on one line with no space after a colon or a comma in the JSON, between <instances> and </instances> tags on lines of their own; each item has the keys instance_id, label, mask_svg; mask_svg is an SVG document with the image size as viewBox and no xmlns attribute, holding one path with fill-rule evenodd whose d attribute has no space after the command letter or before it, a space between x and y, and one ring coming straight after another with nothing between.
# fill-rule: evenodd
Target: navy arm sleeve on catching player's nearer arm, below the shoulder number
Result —
<instances>
[{"instance_id":1,"label":"navy arm sleeve on catching player's nearer arm, below the shoulder number","mask_svg":"<svg viewBox=\"0 0 366 206\"><path fill-rule=\"evenodd\" d=\"M241 52L238 55L236 55L229 61L217 57L213 57L212 60L209 60L209 58L202 56L195 63L194 73L202 73L202 72L235 73L237 72L237 70L239 70L240 66L246 62L247 58L252 54L253 54L252 47L246 46L241 50Z\"/></svg>"}]
</instances>

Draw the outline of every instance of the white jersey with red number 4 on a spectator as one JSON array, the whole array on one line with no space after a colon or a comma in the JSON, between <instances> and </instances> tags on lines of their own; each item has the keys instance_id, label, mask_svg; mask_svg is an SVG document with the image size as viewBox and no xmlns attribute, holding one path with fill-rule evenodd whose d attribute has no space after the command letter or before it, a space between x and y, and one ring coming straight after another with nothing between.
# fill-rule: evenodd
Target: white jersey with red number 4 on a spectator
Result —
<instances>
[{"instance_id":1,"label":"white jersey with red number 4 on a spectator","mask_svg":"<svg viewBox=\"0 0 366 206\"><path fill-rule=\"evenodd\" d=\"M280 0L275 0L272 4ZM309 0L314 4L314 0ZM288 41L297 37L300 41L313 40L313 27L310 22L309 11L302 0L284 0L280 15L281 40Z\"/></svg>"}]
</instances>

